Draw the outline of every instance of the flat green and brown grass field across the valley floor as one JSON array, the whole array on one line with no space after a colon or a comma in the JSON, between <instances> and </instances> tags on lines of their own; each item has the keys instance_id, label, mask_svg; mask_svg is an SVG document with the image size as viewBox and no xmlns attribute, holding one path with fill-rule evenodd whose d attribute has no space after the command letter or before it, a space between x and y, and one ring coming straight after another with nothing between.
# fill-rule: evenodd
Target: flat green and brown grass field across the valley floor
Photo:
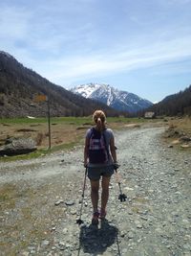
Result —
<instances>
[{"instance_id":1,"label":"flat green and brown grass field across the valley floor","mask_svg":"<svg viewBox=\"0 0 191 256\"><path fill-rule=\"evenodd\" d=\"M165 122L164 122L165 121ZM191 119L154 119L108 117L107 127L113 129L131 128L142 124L156 124L180 128L191 134ZM49 148L49 126L47 118L5 118L0 119L0 146L5 144L9 137L32 137L36 141L37 151L29 155L7 157L20 159L36 157L50 152L65 150L82 143L87 128L93 126L92 117L53 117L51 118L51 150ZM2 159L2 157L0 158Z\"/></svg>"}]
</instances>

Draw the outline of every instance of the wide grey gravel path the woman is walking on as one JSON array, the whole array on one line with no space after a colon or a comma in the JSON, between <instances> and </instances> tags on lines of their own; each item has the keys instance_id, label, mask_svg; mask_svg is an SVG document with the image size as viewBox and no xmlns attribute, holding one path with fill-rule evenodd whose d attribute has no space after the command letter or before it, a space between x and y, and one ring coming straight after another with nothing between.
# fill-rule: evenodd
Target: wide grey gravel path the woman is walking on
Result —
<instances>
[{"instance_id":1,"label":"wide grey gravel path the woman is walking on","mask_svg":"<svg viewBox=\"0 0 191 256\"><path fill-rule=\"evenodd\" d=\"M164 145L164 128L117 131L122 193L115 175L107 220L91 225L83 148L0 163L0 255L191 255L191 158Z\"/></svg>"}]
</instances>

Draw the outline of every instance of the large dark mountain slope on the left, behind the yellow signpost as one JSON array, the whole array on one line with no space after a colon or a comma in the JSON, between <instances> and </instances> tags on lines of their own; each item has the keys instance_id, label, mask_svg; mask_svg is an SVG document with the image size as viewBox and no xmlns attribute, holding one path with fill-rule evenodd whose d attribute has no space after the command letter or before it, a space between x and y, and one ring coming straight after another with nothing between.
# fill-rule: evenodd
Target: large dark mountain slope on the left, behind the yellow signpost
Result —
<instances>
[{"instance_id":1,"label":"large dark mountain slope on the left, behind the yellow signpost","mask_svg":"<svg viewBox=\"0 0 191 256\"><path fill-rule=\"evenodd\" d=\"M87 116L97 108L109 116L118 115L107 105L53 84L0 51L0 117L46 116L46 103L33 104L35 94L49 95L52 116Z\"/></svg>"}]
</instances>

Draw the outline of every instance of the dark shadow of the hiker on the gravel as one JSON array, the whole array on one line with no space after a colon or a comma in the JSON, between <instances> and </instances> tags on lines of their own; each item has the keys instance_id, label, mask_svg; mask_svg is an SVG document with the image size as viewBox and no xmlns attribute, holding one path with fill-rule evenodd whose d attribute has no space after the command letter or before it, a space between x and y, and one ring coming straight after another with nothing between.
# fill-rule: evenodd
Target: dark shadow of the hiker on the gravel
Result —
<instances>
[{"instance_id":1,"label":"dark shadow of the hiker on the gravel","mask_svg":"<svg viewBox=\"0 0 191 256\"><path fill-rule=\"evenodd\" d=\"M100 227L92 224L81 226L78 255L80 255L80 250L83 249L85 253L91 253L96 256L97 254L102 254L107 247L115 243L117 243L118 255L120 255L117 235L117 227L109 224L107 220L101 221Z\"/></svg>"}]
</instances>

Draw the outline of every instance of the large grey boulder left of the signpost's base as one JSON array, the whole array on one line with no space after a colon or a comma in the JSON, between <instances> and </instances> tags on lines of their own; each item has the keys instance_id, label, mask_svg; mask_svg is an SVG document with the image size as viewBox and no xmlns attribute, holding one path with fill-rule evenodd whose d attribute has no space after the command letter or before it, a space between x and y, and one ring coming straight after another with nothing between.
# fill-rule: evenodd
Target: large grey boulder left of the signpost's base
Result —
<instances>
[{"instance_id":1,"label":"large grey boulder left of the signpost's base","mask_svg":"<svg viewBox=\"0 0 191 256\"><path fill-rule=\"evenodd\" d=\"M36 143L32 138L11 138L0 148L0 155L25 154L36 149Z\"/></svg>"}]
</instances>

